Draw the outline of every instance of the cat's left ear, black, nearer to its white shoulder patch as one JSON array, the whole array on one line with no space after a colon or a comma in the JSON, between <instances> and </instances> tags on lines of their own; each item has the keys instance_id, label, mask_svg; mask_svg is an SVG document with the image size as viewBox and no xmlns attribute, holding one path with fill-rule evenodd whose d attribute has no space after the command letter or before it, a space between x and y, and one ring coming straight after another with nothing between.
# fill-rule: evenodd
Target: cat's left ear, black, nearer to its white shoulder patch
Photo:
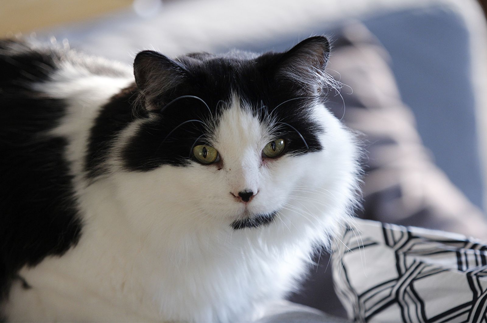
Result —
<instances>
[{"instance_id":1,"label":"cat's left ear, black, nearer to its white shoulder patch","mask_svg":"<svg viewBox=\"0 0 487 323\"><path fill-rule=\"evenodd\" d=\"M135 83L147 109L156 109L154 100L174 89L185 77L185 67L154 51L143 51L133 61Z\"/></svg>"}]
</instances>

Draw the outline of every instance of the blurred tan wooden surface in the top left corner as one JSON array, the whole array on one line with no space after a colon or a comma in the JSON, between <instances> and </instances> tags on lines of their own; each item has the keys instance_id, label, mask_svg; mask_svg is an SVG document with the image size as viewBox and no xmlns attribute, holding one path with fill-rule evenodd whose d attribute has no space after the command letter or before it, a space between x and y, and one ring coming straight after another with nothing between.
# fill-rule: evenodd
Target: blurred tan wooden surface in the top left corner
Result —
<instances>
[{"instance_id":1,"label":"blurred tan wooden surface in the top left corner","mask_svg":"<svg viewBox=\"0 0 487 323\"><path fill-rule=\"evenodd\" d=\"M95 18L133 0L0 0L0 37Z\"/></svg>"}]
</instances>

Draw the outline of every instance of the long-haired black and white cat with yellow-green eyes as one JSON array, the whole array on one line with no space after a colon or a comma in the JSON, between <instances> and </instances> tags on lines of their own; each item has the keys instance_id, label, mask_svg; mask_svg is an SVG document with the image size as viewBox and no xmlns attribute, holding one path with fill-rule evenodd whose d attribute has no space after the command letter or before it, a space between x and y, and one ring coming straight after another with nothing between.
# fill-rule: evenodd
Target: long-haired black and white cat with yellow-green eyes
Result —
<instances>
[{"instance_id":1,"label":"long-haired black and white cat with yellow-green eyes","mask_svg":"<svg viewBox=\"0 0 487 323\"><path fill-rule=\"evenodd\" d=\"M0 42L0 291L9 321L256 319L357 203L325 107L330 44L133 69Z\"/></svg>"}]
</instances>

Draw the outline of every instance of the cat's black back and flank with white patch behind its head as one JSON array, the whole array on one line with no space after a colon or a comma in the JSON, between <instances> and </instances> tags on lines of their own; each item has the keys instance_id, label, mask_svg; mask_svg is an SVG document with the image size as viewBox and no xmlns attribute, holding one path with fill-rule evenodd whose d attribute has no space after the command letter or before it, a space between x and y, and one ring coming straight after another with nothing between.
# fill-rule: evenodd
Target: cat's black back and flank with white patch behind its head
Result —
<instances>
[{"instance_id":1,"label":"cat's black back and flank with white patch behind its head","mask_svg":"<svg viewBox=\"0 0 487 323\"><path fill-rule=\"evenodd\" d=\"M111 80L125 84L130 73L66 48L17 40L0 40L0 71L1 300L21 281L19 268L62 255L78 241L76 174L66 152L121 87L113 89Z\"/></svg>"}]
</instances>

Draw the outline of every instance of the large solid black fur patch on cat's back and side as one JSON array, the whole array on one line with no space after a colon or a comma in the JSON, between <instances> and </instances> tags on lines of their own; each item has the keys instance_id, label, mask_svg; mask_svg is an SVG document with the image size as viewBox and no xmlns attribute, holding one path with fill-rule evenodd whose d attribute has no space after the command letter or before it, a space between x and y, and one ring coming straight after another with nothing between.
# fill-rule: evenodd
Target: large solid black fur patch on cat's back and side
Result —
<instances>
[{"instance_id":1,"label":"large solid black fur patch on cat's back and side","mask_svg":"<svg viewBox=\"0 0 487 323\"><path fill-rule=\"evenodd\" d=\"M56 127L66 104L30 90L56 69L56 57L0 41L0 298L22 266L62 255L81 232L66 140Z\"/></svg>"}]
</instances>

